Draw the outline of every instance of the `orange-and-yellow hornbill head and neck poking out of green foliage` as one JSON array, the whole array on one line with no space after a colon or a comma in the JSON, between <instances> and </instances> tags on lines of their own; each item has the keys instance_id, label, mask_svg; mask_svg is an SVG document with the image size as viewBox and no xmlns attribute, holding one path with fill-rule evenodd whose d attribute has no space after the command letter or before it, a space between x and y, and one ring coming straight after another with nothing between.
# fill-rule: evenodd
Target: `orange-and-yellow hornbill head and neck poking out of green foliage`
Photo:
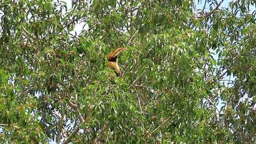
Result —
<instances>
[{"instance_id":1,"label":"orange-and-yellow hornbill head and neck poking out of green foliage","mask_svg":"<svg viewBox=\"0 0 256 144\"><path fill-rule=\"evenodd\" d=\"M125 51L125 48L117 48L107 56L107 65L108 67L115 69L115 74L117 76L120 74L120 67L117 64L117 56L123 51Z\"/></svg>"}]
</instances>

